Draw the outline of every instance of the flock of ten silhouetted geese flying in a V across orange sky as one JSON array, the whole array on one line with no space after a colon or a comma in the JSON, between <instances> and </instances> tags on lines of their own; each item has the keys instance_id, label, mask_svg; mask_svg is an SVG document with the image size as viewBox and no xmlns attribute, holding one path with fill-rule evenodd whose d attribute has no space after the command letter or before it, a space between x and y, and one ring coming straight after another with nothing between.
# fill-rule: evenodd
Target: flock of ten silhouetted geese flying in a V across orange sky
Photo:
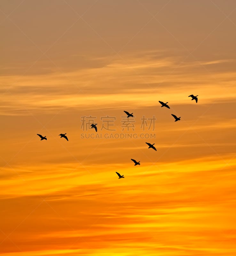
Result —
<instances>
[{"instance_id":1,"label":"flock of ten silhouetted geese flying in a V across orange sky","mask_svg":"<svg viewBox=\"0 0 236 256\"><path fill-rule=\"evenodd\" d=\"M198 102L197 96L198 96L198 95L194 96L193 94L191 94L191 95L189 95L188 97L191 97L192 100L195 100L196 103L197 103L197 102ZM162 102L162 101L159 100L159 103L161 104L161 108L162 108L162 107L170 108L170 107L167 105L168 102L164 103L164 102ZM133 117L133 113L130 114L128 111L124 111L124 112L125 112L125 114L127 114L127 118ZM181 118L181 116L180 116L180 117L177 117L177 116L174 115L174 114L171 114L171 116L173 116L173 117L175 118L175 122L179 121L180 118ZM94 128L95 131L97 132L97 131L98 131L98 128L97 128L96 125L97 125L97 124L91 124L90 126L91 126L91 128ZM41 140L47 140L46 136L42 136L41 134L37 134L37 135L41 138ZM68 138L67 138L67 136L66 136L66 133L64 133L64 134L61 133L61 134L59 134L59 136L61 136L60 138L65 138L65 139L68 141ZM156 148L153 146L155 143L151 144L151 143L146 142L146 144L149 146L148 148L153 148L153 149L156 151ZM135 159L132 159L132 158L131 158L131 160L134 162L134 166L140 165L140 161L137 162ZM116 172L116 174L119 176L119 179L124 178L124 175L121 175L119 172Z\"/></svg>"}]
</instances>

